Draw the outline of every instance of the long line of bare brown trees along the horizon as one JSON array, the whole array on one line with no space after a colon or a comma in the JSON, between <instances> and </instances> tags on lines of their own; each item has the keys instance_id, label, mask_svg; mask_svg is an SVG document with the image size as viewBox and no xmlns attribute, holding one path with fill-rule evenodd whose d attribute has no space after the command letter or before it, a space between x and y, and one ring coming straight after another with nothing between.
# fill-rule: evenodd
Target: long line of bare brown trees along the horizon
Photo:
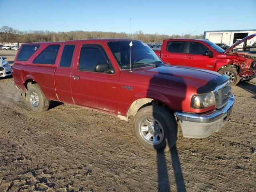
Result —
<instances>
[{"instance_id":1,"label":"long line of bare brown trees along the horizon","mask_svg":"<svg viewBox=\"0 0 256 192\"><path fill-rule=\"evenodd\" d=\"M67 41L74 39L92 39L92 38L126 38L130 39L130 34L121 32L102 32L102 31L69 31L69 32L50 32L46 31L19 31L8 26L0 28L0 42L46 42L46 41ZM142 30L132 34L133 39L144 42L162 42L170 38L198 38L203 35L165 35L165 34L144 34Z\"/></svg>"}]
</instances>

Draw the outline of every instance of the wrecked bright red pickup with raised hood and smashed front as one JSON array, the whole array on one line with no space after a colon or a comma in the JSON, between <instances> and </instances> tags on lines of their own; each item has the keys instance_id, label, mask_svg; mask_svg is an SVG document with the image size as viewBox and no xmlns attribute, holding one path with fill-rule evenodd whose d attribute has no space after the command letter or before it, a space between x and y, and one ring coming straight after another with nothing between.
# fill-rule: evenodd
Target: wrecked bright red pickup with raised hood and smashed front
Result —
<instances>
[{"instance_id":1,"label":"wrecked bright red pickup with raised hood and smashed front","mask_svg":"<svg viewBox=\"0 0 256 192\"><path fill-rule=\"evenodd\" d=\"M254 36L256 34L247 36L226 50L209 40L166 39L161 50L154 51L163 62L226 74L232 85L236 85L241 79L249 81L256 76L256 57L232 52L232 49Z\"/></svg>"}]
</instances>

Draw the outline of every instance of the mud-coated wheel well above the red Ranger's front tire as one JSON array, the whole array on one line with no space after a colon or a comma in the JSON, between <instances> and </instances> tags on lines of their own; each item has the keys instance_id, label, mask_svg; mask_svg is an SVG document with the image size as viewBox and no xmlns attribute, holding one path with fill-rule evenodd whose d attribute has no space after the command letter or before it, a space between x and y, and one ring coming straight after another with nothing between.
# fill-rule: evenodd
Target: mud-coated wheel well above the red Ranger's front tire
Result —
<instances>
[{"instance_id":1,"label":"mud-coated wheel well above the red Ranger's front tire","mask_svg":"<svg viewBox=\"0 0 256 192\"><path fill-rule=\"evenodd\" d=\"M146 107L146 106L150 106L150 105L160 105L160 106L166 106L164 103L154 100L154 99L150 99L150 98L142 98L142 99L138 99L136 101L134 101L127 112L127 117L129 116L135 116L136 113Z\"/></svg>"}]
</instances>

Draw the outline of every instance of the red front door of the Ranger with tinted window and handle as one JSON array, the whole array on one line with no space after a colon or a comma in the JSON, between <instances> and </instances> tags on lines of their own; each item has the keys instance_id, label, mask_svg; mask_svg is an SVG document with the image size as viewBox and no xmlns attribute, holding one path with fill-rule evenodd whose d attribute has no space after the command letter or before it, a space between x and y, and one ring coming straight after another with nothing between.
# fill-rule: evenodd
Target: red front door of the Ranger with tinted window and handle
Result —
<instances>
[{"instance_id":1,"label":"red front door of the Ranger with tinted window and handle","mask_svg":"<svg viewBox=\"0 0 256 192\"><path fill-rule=\"evenodd\" d=\"M118 78L114 74L95 72L98 63L109 62L108 56L99 44L80 43L76 64L70 75L72 98L75 104L108 112L117 112Z\"/></svg>"}]
</instances>

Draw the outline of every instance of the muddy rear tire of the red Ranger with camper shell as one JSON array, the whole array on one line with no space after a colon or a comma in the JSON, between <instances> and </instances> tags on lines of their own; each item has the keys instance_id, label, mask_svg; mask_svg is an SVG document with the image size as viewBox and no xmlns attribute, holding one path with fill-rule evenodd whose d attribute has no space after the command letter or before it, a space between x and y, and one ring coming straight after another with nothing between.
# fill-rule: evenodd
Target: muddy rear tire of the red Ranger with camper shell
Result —
<instances>
[{"instance_id":1,"label":"muddy rear tire of the red Ranger with camper shell","mask_svg":"<svg viewBox=\"0 0 256 192\"><path fill-rule=\"evenodd\" d=\"M38 104L35 106L32 102L34 101L32 98L30 99L30 95L37 95ZM48 100L44 93L42 92L40 86L38 84L32 84L28 87L28 104L30 108L36 112L44 112L49 108L50 100Z\"/></svg>"}]
</instances>

